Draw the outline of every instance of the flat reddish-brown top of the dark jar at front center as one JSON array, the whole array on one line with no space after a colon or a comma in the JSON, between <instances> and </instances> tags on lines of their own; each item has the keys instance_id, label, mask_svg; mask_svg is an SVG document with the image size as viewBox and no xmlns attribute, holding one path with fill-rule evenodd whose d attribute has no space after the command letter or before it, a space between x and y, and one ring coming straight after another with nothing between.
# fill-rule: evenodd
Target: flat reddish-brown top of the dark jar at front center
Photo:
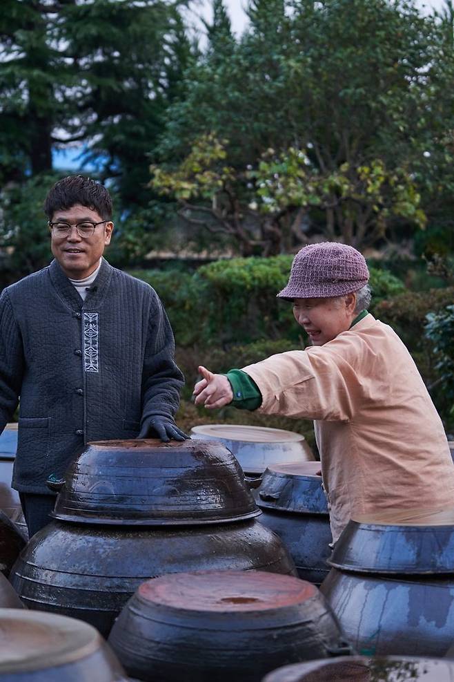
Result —
<instances>
[{"instance_id":1,"label":"flat reddish-brown top of the dark jar at front center","mask_svg":"<svg viewBox=\"0 0 454 682\"><path fill-rule=\"evenodd\" d=\"M265 571L196 571L160 576L139 587L148 603L190 612L264 612L317 594L310 582Z\"/></svg>"}]
</instances>

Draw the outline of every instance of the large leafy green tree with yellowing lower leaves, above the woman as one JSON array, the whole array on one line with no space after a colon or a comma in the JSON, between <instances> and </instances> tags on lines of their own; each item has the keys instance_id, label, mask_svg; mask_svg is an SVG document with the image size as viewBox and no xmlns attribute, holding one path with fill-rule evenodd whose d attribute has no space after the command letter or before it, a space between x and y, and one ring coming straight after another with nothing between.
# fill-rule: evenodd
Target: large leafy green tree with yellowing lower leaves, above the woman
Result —
<instances>
[{"instance_id":1,"label":"large leafy green tree with yellowing lower leaves, above the woman","mask_svg":"<svg viewBox=\"0 0 454 682\"><path fill-rule=\"evenodd\" d=\"M181 173L207 135L226 140L228 193L242 229L259 222L265 253L296 247L310 230L364 247L424 227L444 171L452 176L446 21L407 0L256 0L249 15L224 59L207 50L186 76L161 142L172 156L164 169ZM193 192L197 209L226 189Z\"/></svg>"}]
</instances>

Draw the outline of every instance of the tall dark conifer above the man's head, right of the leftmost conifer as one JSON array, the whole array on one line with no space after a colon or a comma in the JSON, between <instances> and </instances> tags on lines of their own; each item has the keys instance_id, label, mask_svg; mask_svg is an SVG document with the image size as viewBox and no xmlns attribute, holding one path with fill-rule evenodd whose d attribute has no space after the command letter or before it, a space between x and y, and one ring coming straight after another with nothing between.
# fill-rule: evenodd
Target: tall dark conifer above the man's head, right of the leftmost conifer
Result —
<instances>
[{"instance_id":1,"label":"tall dark conifer above the man's head, right of the leftmost conifer","mask_svg":"<svg viewBox=\"0 0 454 682\"><path fill-rule=\"evenodd\" d=\"M124 207L147 205L148 154L179 94L192 46L178 3L97 0L68 8L61 27L79 73L68 97L70 130L87 146L101 178L115 178Z\"/></svg>"}]
</instances>

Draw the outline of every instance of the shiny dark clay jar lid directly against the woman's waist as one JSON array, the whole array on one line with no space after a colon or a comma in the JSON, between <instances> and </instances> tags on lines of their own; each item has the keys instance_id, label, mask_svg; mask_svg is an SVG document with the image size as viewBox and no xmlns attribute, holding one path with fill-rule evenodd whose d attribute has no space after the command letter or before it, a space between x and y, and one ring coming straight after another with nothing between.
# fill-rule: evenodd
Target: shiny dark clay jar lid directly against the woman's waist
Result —
<instances>
[{"instance_id":1,"label":"shiny dark clay jar lid directly against the woman's waist","mask_svg":"<svg viewBox=\"0 0 454 682\"><path fill-rule=\"evenodd\" d=\"M301 514L328 515L322 488L320 462L270 464L257 489L257 504L262 509Z\"/></svg>"}]
</instances>

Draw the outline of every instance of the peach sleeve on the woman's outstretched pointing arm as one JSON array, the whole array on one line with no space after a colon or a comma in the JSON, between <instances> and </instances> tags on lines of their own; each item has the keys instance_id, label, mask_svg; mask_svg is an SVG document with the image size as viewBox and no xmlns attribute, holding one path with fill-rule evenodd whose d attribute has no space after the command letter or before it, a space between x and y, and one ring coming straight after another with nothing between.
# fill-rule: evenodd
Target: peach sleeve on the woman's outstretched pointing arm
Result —
<instances>
[{"instance_id":1,"label":"peach sleeve on the woman's outstretched pointing arm","mask_svg":"<svg viewBox=\"0 0 454 682\"><path fill-rule=\"evenodd\" d=\"M361 400L357 372L324 348L280 353L243 371L263 397L257 411L267 415L348 422Z\"/></svg>"}]
</instances>

